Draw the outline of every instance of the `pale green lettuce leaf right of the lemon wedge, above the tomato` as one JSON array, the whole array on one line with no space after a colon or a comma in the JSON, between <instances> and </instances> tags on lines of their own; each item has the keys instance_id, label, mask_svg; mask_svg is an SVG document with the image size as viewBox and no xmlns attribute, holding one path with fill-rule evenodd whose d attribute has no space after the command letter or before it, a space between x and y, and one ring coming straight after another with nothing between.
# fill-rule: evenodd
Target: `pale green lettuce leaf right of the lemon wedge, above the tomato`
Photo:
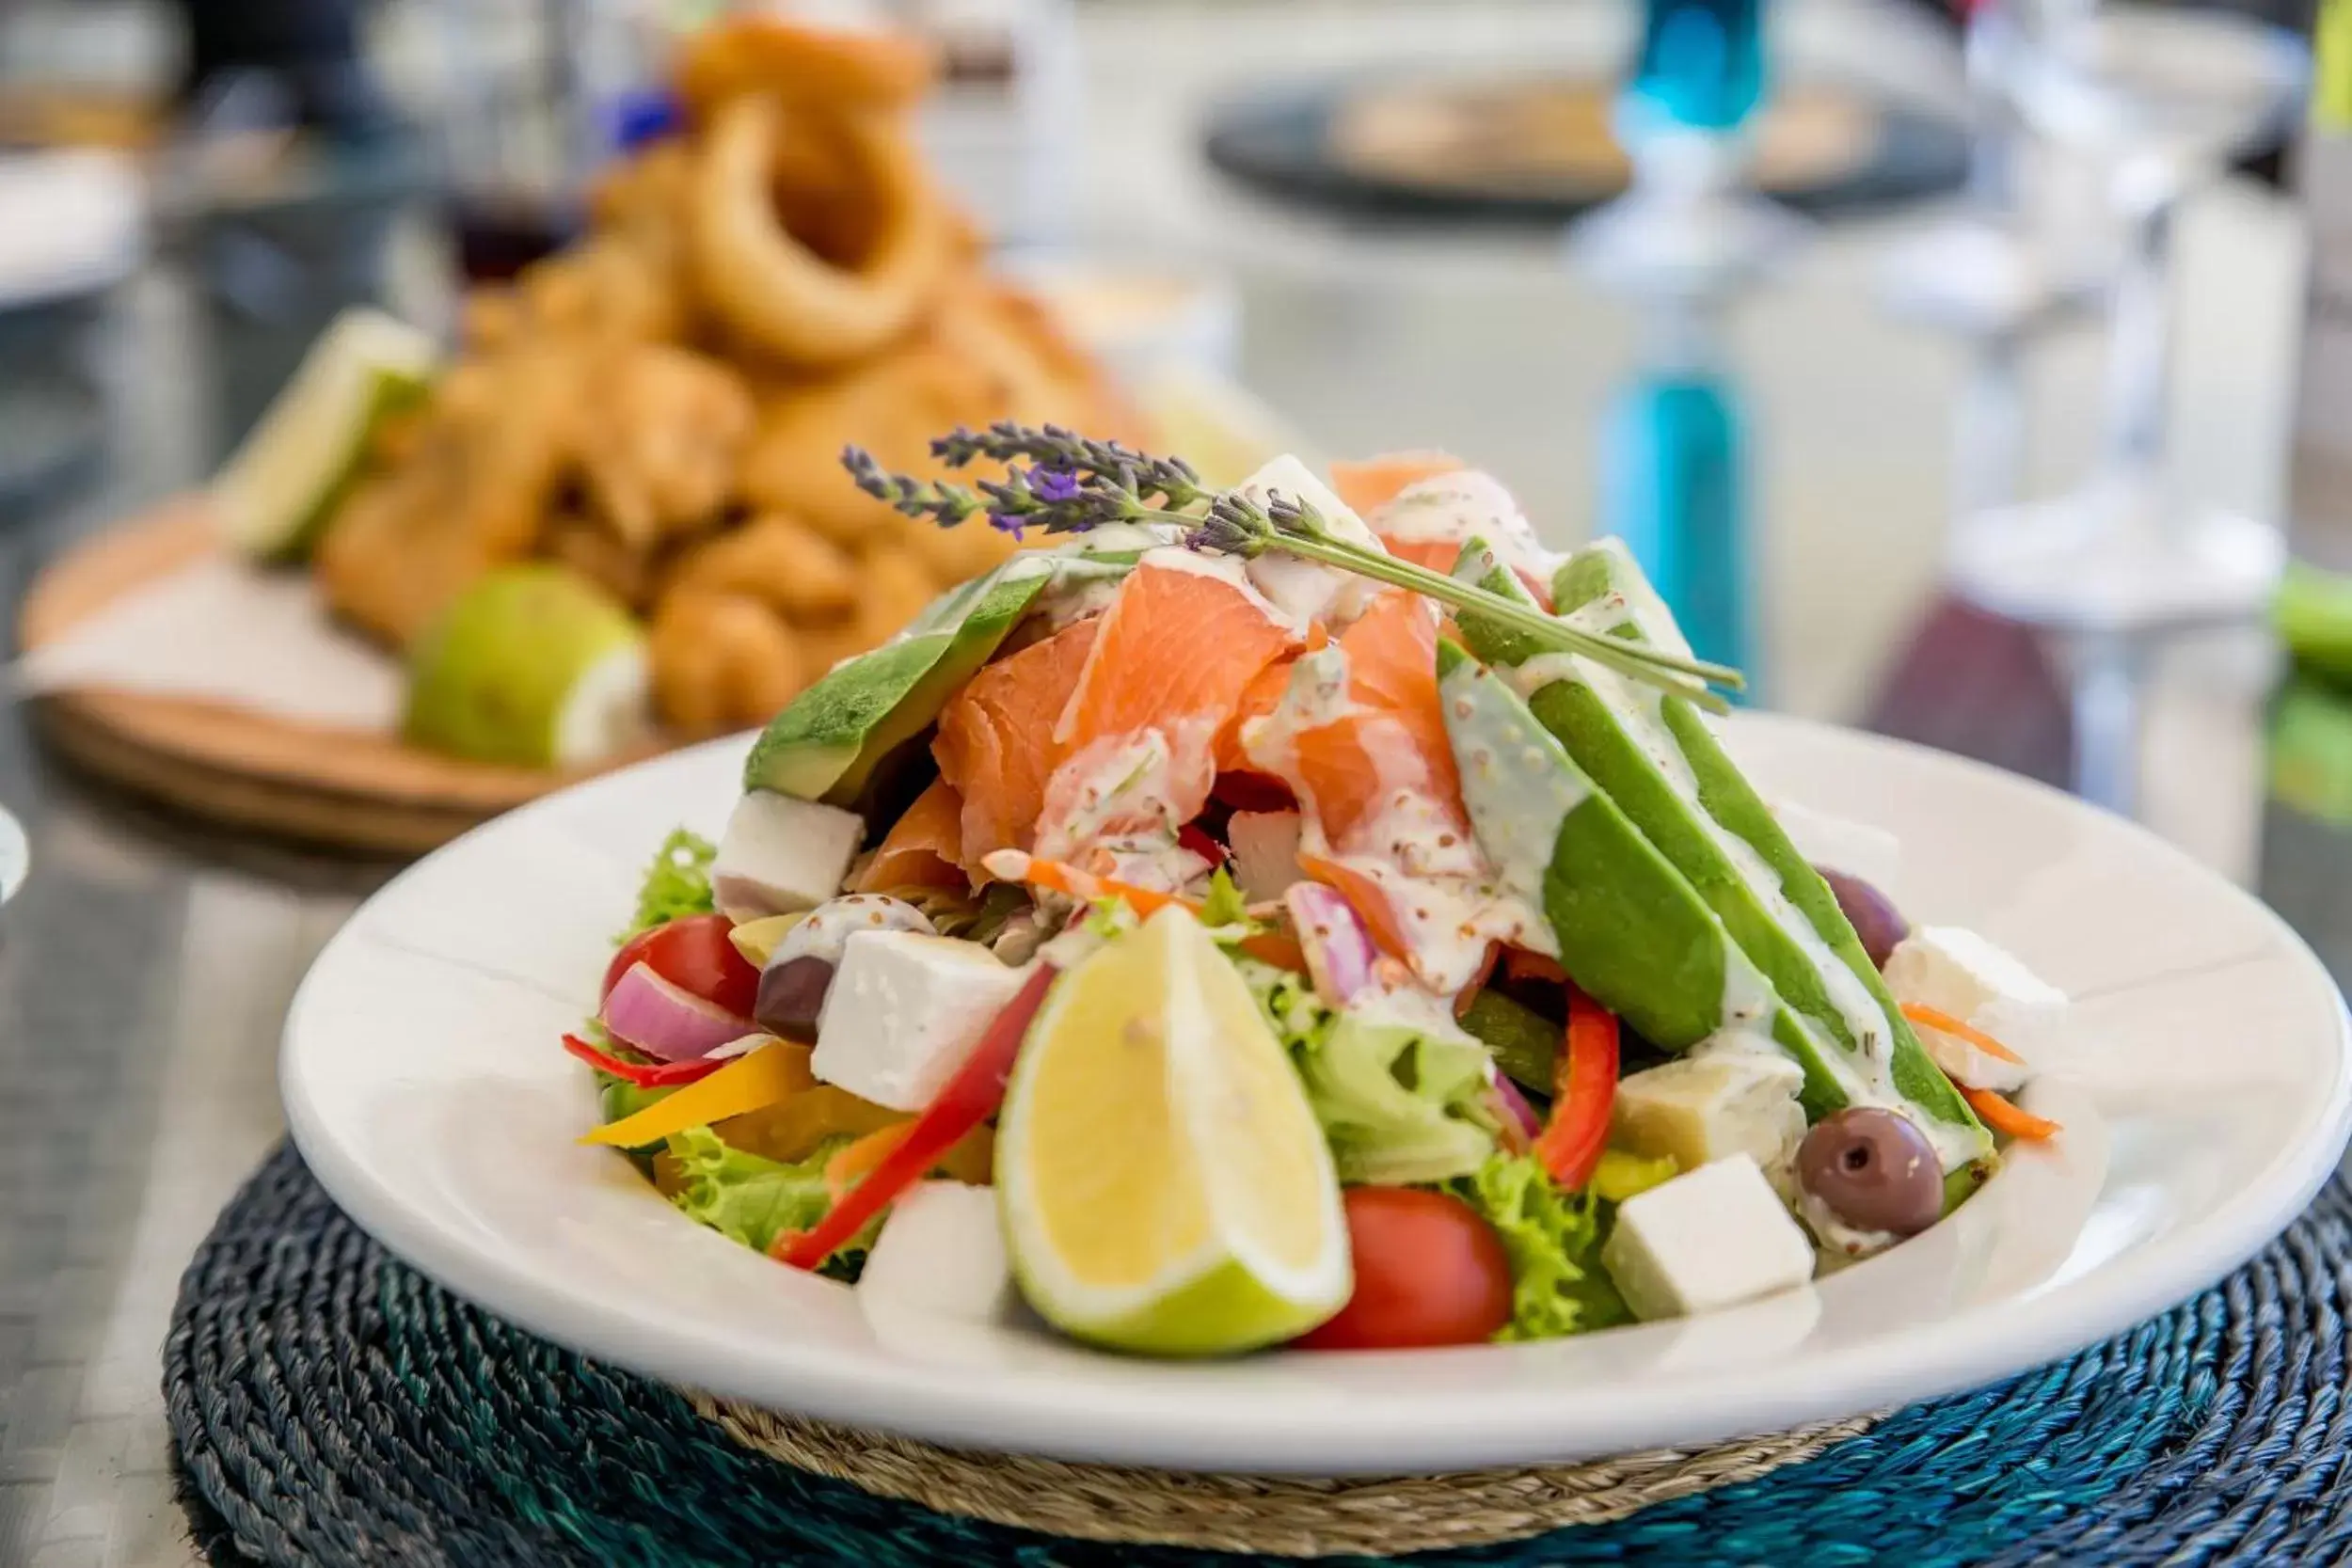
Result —
<instances>
[{"instance_id":1,"label":"pale green lettuce leaf right of the lemon wedge, above the tomato","mask_svg":"<svg viewBox=\"0 0 2352 1568\"><path fill-rule=\"evenodd\" d=\"M1442 1182L1494 1154L1501 1128L1475 1039L1376 1009L1334 1011L1303 976L1240 969L1291 1053L1343 1182Z\"/></svg>"}]
</instances>

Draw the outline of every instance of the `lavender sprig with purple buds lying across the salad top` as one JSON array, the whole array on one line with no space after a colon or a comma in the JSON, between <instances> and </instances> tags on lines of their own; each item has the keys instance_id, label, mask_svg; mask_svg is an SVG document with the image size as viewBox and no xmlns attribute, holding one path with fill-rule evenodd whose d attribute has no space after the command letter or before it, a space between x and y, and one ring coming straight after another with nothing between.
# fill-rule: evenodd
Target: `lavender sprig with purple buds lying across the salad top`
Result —
<instances>
[{"instance_id":1,"label":"lavender sprig with purple buds lying across the salad top","mask_svg":"<svg viewBox=\"0 0 2352 1568\"><path fill-rule=\"evenodd\" d=\"M1731 689L1743 684L1740 672L1729 665L1588 632L1475 583L1461 583L1385 550L1367 550L1336 534L1305 498L1268 494L1258 501L1237 489L1211 489L1183 458L1150 456L1061 425L1033 430L1011 421L943 435L931 442L931 456L948 468L967 468L981 458L1004 463L1004 477L971 487L915 480L887 473L858 447L842 451L842 465L868 496L948 529L976 515L985 515L990 527L1014 536L1030 527L1047 534L1082 534L1112 522L1181 520L1192 524L1183 541L1192 550L1240 559L1272 550L1409 588L1439 604L1501 621L1541 646L1581 654L1717 712L1724 710L1724 701L1708 691L1708 682Z\"/></svg>"}]
</instances>

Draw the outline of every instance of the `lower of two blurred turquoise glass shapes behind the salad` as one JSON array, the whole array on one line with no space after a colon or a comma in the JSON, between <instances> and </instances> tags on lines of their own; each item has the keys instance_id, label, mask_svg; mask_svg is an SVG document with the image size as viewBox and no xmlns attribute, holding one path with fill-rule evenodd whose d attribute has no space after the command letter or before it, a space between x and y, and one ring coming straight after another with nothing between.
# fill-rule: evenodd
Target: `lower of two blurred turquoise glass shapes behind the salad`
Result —
<instances>
[{"instance_id":1,"label":"lower of two blurred turquoise glass shapes behind the salad","mask_svg":"<svg viewBox=\"0 0 2352 1568\"><path fill-rule=\"evenodd\" d=\"M1745 421L1689 306L1658 306L1653 343L1602 418L1602 527L1625 541L1691 651L1748 672L1757 701Z\"/></svg>"}]
</instances>

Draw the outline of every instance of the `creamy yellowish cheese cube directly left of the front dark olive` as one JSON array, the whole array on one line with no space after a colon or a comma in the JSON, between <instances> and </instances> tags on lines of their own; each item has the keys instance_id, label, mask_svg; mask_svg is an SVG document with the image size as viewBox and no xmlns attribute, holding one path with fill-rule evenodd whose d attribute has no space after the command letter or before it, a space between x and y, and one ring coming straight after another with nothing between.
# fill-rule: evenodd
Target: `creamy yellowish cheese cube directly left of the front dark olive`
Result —
<instances>
[{"instance_id":1,"label":"creamy yellowish cheese cube directly left of the front dark olive","mask_svg":"<svg viewBox=\"0 0 2352 1568\"><path fill-rule=\"evenodd\" d=\"M1700 1048L1618 1084L1609 1140L1684 1171L1745 1154L1771 1168L1804 1138L1804 1070L1778 1051Z\"/></svg>"}]
</instances>

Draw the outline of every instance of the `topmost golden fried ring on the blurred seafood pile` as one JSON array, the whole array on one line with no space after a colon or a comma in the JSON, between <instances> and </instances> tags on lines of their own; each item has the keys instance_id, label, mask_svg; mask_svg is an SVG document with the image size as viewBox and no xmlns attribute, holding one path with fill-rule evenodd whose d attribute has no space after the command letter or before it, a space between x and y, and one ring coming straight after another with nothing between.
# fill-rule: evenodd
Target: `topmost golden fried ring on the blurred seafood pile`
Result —
<instances>
[{"instance_id":1,"label":"topmost golden fried ring on the blurred seafood pile","mask_svg":"<svg viewBox=\"0 0 2352 1568\"><path fill-rule=\"evenodd\" d=\"M734 16L677 54L675 87L706 122L743 94L826 108L906 108L938 78L938 52L906 33L816 28L781 16Z\"/></svg>"}]
</instances>

